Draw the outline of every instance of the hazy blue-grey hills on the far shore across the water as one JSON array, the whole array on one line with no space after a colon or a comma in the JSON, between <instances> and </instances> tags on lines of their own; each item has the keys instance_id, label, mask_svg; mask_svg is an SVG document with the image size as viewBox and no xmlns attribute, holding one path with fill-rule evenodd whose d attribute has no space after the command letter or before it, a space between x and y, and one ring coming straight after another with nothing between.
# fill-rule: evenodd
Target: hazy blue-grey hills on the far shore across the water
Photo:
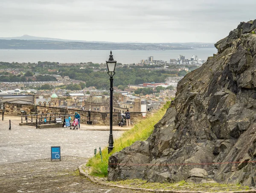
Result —
<instances>
[{"instance_id":1,"label":"hazy blue-grey hills on the far shore across the water","mask_svg":"<svg viewBox=\"0 0 256 193\"><path fill-rule=\"evenodd\" d=\"M122 49L122 50L177 50L214 48L213 43L114 43L85 40L65 40L51 37L0 37L0 49Z\"/></svg>"}]
</instances>

